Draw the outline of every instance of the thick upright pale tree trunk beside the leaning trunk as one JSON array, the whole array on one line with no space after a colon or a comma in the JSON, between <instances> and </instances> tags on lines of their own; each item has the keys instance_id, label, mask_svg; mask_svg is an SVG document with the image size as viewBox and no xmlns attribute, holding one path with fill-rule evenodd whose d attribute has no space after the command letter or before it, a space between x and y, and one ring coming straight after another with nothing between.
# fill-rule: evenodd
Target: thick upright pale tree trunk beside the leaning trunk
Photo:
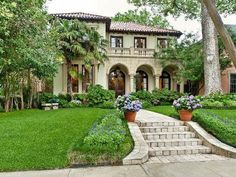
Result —
<instances>
[{"instance_id":1,"label":"thick upright pale tree trunk beside the leaning trunk","mask_svg":"<svg viewBox=\"0 0 236 177\"><path fill-rule=\"evenodd\" d=\"M221 91L218 39L215 26L202 4L205 95Z\"/></svg>"}]
</instances>

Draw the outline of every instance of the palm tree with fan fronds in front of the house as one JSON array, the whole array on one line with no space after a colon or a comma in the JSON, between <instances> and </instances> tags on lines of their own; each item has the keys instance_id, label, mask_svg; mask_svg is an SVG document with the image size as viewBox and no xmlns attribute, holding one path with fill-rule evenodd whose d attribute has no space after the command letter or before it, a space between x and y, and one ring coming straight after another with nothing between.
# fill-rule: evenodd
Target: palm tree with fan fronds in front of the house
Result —
<instances>
[{"instance_id":1,"label":"palm tree with fan fronds in front of the house","mask_svg":"<svg viewBox=\"0 0 236 177\"><path fill-rule=\"evenodd\" d=\"M88 69L96 60L103 63L106 56L106 40L94 29L78 20L55 21L61 51L67 64L67 92L72 96L72 60L82 59Z\"/></svg>"}]
</instances>

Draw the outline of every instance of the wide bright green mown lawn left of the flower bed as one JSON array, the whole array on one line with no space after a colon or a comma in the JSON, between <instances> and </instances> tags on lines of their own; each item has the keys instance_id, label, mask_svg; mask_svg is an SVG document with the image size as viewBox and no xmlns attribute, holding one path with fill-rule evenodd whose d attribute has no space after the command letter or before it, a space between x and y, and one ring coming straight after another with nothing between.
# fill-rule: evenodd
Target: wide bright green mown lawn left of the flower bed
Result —
<instances>
[{"instance_id":1,"label":"wide bright green mown lawn left of the flower bed","mask_svg":"<svg viewBox=\"0 0 236 177\"><path fill-rule=\"evenodd\" d=\"M111 110L98 108L0 113L0 171L69 166L68 154Z\"/></svg>"}]
</instances>

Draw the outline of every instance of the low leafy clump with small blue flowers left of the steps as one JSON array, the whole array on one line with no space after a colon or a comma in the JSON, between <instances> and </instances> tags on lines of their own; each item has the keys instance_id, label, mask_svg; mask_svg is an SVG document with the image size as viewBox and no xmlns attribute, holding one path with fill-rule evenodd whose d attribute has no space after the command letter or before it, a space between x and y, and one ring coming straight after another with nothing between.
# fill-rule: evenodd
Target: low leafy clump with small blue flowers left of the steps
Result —
<instances>
[{"instance_id":1,"label":"low leafy clump with small blue flowers left of the steps","mask_svg":"<svg viewBox=\"0 0 236 177\"><path fill-rule=\"evenodd\" d=\"M114 151L125 140L126 130L119 114L109 114L96 124L84 138L84 145L91 151Z\"/></svg>"}]
</instances>

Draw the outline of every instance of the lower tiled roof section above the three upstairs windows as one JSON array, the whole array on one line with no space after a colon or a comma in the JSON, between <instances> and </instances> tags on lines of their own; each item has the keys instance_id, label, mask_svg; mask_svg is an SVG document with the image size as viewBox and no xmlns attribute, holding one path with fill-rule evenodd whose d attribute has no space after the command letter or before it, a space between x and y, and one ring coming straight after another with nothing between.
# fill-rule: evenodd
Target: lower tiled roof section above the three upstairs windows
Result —
<instances>
[{"instance_id":1,"label":"lower tiled roof section above the three upstairs windows","mask_svg":"<svg viewBox=\"0 0 236 177\"><path fill-rule=\"evenodd\" d=\"M130 33L142 33L142 34L169 34L174 36L180 36L180 31L172 29L162 29L158 27L140 25L133 22L111 22L110 32L130 32Z\"/></svg>"}]
</instances>

